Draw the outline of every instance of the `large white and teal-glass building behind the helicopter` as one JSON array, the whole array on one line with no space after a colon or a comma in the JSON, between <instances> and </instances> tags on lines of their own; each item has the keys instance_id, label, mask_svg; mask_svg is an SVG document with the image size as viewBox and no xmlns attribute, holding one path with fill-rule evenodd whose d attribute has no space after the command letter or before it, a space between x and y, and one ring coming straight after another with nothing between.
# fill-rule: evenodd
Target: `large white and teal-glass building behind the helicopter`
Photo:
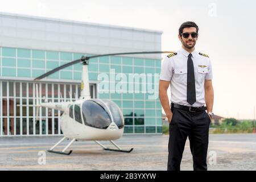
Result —
<instances>
[{"instance_id":1,"label":"large white and teal-glass building behind the helicopter","mask_svg":"<svg viewBox=\"0 0 256 182\"><path fill-rule=\"evenodd\" d=\"M160 51L161 35L160 31L0 13L0 136L61 135L60 111L41 108L36 121L35 107L28 106L35 104L33 79L82 55ZM125 133L162 134L159 98L148 99L152 92L112 92L111 80L109 93L99 92L98 75L109 76L111 69L115 75L127 77L129 73L160 73L160 60L159 54L90 59L91 95L121 107ZM40 101L75 100L80 95L81 68L72 65L40 81ZM158 88L158 77L155 80L152 88ZM142 81L134 84L139 88L147 85Z\"/></svg>"}]
</instances>

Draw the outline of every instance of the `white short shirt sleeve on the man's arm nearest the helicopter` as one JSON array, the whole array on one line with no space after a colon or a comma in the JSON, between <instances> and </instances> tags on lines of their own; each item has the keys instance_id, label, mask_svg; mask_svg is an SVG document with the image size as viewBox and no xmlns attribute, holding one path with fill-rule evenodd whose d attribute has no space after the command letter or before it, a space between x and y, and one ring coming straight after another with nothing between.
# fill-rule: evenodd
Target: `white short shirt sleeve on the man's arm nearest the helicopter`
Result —
<instances>
[{"instance_id":1,"label":"white short shirt sleeve on the man's arm nearest the helicopter","mask_svg":"<svg viewBox=\"0 0 256 182\"><path fill-rule=\"evenodd\" d=\"M170 59L169 57L166 57L162 63L159 80L170 81L172 78L172 69L173 69L172 59Z\"/></svg>"}]
</instances>

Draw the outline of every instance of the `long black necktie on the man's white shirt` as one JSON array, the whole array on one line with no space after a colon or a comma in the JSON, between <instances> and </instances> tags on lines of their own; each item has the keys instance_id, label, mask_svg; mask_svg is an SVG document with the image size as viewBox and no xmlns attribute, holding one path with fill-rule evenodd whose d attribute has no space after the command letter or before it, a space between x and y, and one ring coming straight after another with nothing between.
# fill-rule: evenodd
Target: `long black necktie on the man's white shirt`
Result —
<instances>
[{"instance_id":1,"label":"long black necktie on the man's white shirt","mask_svg":"<svg viewBox=\"0 0 256 182\"><path fill-rule=\"evenodd\" d=\"M188 75L187 75L187 102L193 105L196 102L196 85L195 85L195 73L194 65L191 59L192 54L188 55Z\"/></svg>"}]
</instances>

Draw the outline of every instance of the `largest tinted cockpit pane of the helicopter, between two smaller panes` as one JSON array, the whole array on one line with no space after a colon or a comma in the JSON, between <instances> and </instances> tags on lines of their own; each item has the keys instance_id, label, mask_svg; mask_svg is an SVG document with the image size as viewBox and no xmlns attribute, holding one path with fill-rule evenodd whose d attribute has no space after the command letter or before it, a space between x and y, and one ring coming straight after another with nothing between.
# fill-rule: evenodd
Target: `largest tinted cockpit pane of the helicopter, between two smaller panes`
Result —
<instances>
[{"instance_id":1,"label":"largest tinted cockpit pane of the helicopter, between two smaller panes","mask_svg":"<svg viewBox=\"0 0 256 182\"><path fill-rule=\"evenodd\" d=\"M106 129L111 123L110 116L105 109L92 100L82 104L82 117L85 125L98 129Z\"/></svg>"}]
</instances>

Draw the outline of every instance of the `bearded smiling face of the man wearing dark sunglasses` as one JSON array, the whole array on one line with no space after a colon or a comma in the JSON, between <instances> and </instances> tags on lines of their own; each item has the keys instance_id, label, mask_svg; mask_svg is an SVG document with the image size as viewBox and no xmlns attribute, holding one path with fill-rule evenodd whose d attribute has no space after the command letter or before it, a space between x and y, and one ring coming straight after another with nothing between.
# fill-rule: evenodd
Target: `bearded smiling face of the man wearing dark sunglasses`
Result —
<instances>
[{"instance_id":1,"label":"bearded smiling face of the man wearing dark sunglasses","mask_svg":"<svg viewBox=\"0 0 256 182\"><path fill-rule=\"evenodd\" d=\"M189 33L188 38L184 38L183 35L179 35L179 39L185 48L191 49L191 48L195 47L195 45L196 45L196 40L197 40L198 36L196 38L192 38L192 36L191 36L192 32L196 32L196 27L183 28L182 34Z\"/></svg>"}]
</instances>

